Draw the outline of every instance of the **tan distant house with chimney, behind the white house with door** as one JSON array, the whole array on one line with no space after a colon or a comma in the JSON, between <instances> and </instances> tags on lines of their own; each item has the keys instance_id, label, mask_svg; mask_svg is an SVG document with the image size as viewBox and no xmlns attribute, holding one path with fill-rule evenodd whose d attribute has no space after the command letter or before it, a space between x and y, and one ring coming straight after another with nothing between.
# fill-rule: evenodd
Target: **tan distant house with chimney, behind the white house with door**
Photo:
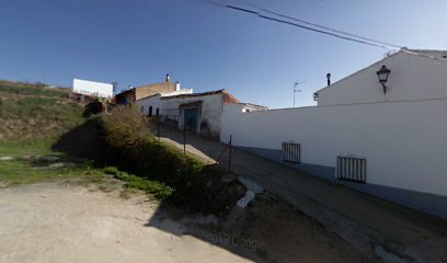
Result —
<instances>
[{"instance_id":1,"label":"tan distant house with chimney, behind the white house with door","mask_svg":"<svg viewBox=\"0 0 447 263\"><path fill-rule=\"evenodd\" d=\"M148 98L158 93L174 92L176 84L171 82L171 78L167 75L165 81L161 83L147 84L141 87L131 88L115 95L116 103L126 105L128 103L135 103L138 100Z\"/></svg>"}]
</instances>

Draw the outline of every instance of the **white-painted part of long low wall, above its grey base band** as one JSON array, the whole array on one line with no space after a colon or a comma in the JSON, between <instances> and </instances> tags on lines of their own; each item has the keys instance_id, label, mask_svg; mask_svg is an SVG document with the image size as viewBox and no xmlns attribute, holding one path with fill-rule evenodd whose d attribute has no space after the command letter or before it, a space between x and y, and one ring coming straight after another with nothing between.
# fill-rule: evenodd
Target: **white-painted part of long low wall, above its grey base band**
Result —
<instances>
[{"instance_id":1,"label":"white-painted part of long low wall, above its grey base band","mask_svg":"<svg viewBox=\"0 0 447 263\"><path fill-rule=\"evenodd\" d=\"M367 159L367 183L447 196L447 100L313 106L242 113L225 105L220 138L279 150L301 144L301 161L335 167Z\"/></svg>"}]
</instances>

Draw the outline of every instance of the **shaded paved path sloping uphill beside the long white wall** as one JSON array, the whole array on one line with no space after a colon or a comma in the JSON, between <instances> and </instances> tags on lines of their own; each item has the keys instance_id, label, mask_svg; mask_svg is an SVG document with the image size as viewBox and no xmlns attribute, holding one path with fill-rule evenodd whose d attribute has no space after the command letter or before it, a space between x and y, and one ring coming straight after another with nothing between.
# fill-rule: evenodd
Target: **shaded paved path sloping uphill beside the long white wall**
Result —
<instances>
[{"instance_id":1,"label":"shaded paved path sloping uphill beside the long white wall","mask_svg":"<svg viewBox=\"0 0 447 263\"><path fill-rule=\"evenodd\" d=\"M161 126L161 139L183 149L181 132ZM186 150L209 162L225 145L187 134ZM447 222L233 148L232 171L256 181L319 220L365 254L388 262L447 262ZM228 169L228 151L219 165ZM399 255L399 258L397 258Z\"/></svg>"}]
</instances>

